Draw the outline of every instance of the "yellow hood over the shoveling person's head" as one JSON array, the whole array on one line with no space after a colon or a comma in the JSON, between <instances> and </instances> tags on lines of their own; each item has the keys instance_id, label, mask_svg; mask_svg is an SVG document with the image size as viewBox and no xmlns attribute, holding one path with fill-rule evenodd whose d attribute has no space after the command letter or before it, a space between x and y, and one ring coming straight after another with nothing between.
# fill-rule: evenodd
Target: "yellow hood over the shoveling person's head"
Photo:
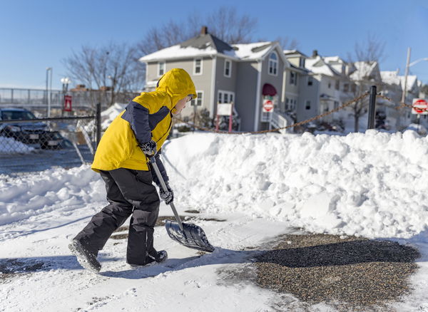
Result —
<instances>
[{"instance_id":1,"label":"yellow hood over the shoveling person's head","mask_svg":"<svg viewBox=\"0 0 428 312\"><path fill-rule=\"evenodd\" d=\"M193 95L193 98L196 98L195 84L190 78L190 75L187 71L182 68L173 68L170 71L167 71L156 85L156 91L163 91L167 93L173 107L179 100L185 98L188 95Z\"/></svg>"}]
</instances>

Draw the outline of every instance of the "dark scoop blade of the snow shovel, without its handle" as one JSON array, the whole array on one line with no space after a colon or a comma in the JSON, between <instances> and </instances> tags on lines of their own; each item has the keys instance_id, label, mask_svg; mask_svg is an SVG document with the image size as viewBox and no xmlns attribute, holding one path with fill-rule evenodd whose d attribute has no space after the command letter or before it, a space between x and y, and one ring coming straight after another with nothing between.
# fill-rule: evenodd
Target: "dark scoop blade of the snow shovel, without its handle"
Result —
<instances>
[{"instance_id":1,"label":"dark scoop blade of the snow shovel, without its handle","mask_svg":"<svg viewBox=\"0 0 428 312\"><path fill-rule=\"evenodd\" d=\"M203 229L195 224L183 223L181 231L178 222L166 220L165 229L171 239L192 249L213 252L214 247L208 242L207 236Z\"/></svg>"}]
</instances>

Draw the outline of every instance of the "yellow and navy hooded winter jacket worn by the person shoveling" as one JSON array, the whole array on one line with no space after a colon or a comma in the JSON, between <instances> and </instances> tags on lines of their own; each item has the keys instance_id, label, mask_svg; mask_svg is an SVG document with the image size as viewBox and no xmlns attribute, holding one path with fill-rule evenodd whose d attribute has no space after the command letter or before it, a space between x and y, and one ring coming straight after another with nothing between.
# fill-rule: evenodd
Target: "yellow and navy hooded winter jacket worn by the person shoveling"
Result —
<instances>
[{"instance_id":1,"label":"yellow and navy hooded winter jacket worn by the person shoveling","mask_svg":"<svg viewBox=\"0 0 428 312\"><path fill-rule=\"evenodd\" d=\"M96 172L121 167L149 170L138 144L153 140L156 150L161 150L171 129L171 111L178 100L188 95L196 98L195 85L186 71L174 68L165 73L155 91L138 95L108 126L91 168Z\"/></svg>"}]
</instances>

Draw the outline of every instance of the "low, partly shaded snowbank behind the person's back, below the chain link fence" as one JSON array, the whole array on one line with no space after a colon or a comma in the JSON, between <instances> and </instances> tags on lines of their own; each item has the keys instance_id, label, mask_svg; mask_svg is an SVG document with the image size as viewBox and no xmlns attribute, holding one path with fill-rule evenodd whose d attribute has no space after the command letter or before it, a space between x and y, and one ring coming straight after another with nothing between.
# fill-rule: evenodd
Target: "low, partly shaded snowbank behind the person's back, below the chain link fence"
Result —
<instances>
[{"instance_id":1,"label":"low, partly shaded snowbank behind the person's back, below the chain link fence","mask_svg":"<svg viewBox=\"0 0 428 312\"><path fill-rule=\"evenodd\" d=\"M0 180L0 225L105 198L104 183L88 165Z\"/></svg>"}]
</instances>

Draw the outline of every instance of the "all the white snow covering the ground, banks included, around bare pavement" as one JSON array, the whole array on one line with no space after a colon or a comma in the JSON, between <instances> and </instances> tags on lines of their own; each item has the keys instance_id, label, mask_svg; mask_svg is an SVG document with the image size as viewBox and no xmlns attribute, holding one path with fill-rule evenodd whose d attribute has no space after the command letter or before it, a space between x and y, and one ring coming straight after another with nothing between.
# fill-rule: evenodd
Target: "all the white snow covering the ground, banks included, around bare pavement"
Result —
<instances>
[{"instance_id":1,"label":"all the white snow covering the ground, banks included, around bare pavement","mask_svg":"<svg viewBox=\"0 0 428 312\"><path fill-rule=\"evenodd\" d=\"M414 291L395 306L428 311L427 137L195 134L167 142L163 162L180 214L226 220L196 221L213 254L199 256L156 228L165 264L131 270L126 239L110 239L101 275L89 274L67 245L106 205L101 178L82 166L1 181L0 260L47 265L1 284L0 311L271 311L276 293L217 272L245 265L242 249L295 227L416 246ZM164 204L161 215L171 215Z\"/></svg>"}]
</instances>

